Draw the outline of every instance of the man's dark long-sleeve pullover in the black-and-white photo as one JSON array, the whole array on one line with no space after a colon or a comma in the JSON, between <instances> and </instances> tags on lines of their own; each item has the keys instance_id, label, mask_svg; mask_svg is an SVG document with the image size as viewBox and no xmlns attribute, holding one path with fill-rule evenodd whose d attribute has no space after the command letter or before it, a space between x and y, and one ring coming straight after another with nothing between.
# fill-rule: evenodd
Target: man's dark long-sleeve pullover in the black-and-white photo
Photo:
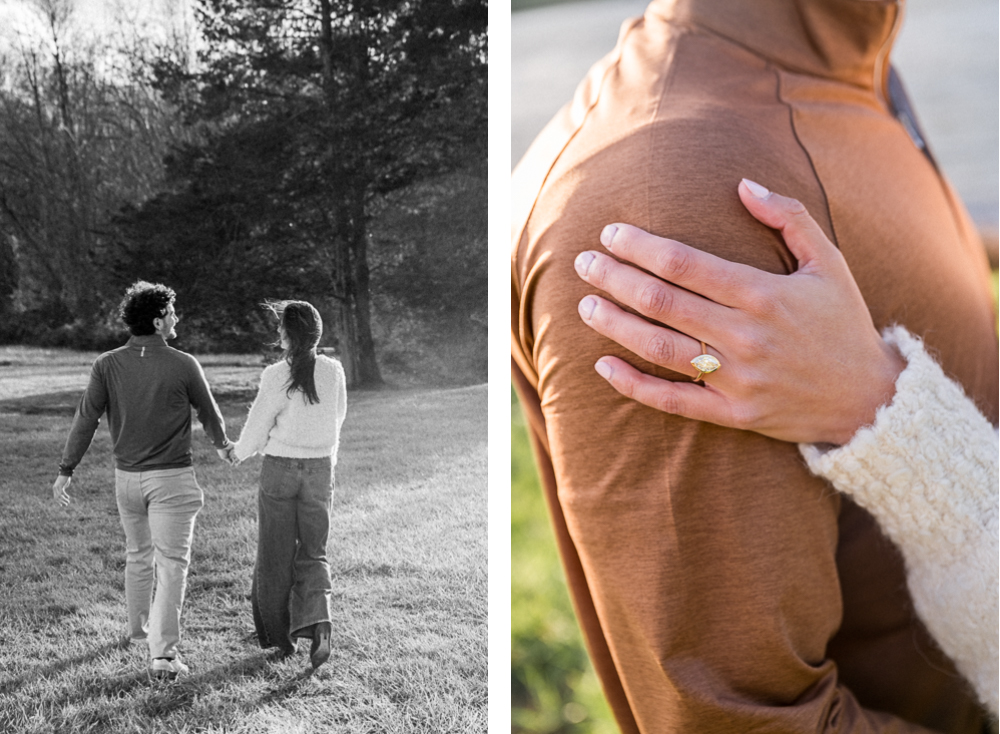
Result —
<instances>
[{"instance_id":1,"label":"man's dark long-sleeve pullover in the black-and-white photo","mask_svg":"<svg viewBox=\"0 0 1000 734\"><path fill-rule=\"evenodd\" d=\"M105 410L115 465L122 471L191 466L191 406L212 443L225 446L222 413L198 361L168 347L158 334L133 336L94 362L59 473L72 475Z\"/></svg>"}]
</instances>

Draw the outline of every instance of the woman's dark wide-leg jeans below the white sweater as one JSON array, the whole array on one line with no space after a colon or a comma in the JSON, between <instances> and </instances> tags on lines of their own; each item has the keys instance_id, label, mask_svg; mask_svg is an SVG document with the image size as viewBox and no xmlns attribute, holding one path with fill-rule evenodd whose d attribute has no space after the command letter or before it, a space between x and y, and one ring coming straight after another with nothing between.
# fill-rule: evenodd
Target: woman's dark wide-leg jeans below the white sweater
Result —
<instances>
[{"instance_id":1,"label":"woman's dark wide-leg jeans below the white sweater","mask_svg":"<svg viewBox=\"0 0 1000 734\"><path fill-rule=\"evenodd\" d=\"M251 589L261 647L290 652L295 637L309 637L312 625L330 621L333 585L326 545L332 506L329 457L264 457Z\"/></svg>"}]
</instances>

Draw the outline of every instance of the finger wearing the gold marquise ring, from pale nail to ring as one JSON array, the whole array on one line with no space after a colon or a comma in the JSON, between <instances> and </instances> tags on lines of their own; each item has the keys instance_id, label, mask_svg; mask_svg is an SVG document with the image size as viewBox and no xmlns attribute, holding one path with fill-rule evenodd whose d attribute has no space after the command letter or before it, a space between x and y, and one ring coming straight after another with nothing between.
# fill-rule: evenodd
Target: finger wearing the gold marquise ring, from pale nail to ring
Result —
<instances>
[{"instance_id":1,"label":"finger wearing the gold marquise ring, from pale nail to ring","mask_svg":"<svg viewBox=\"0 0 1000 734\"><path fill-rule=\"evenodd\" d=\"M587 326L647 362L692 379L698 372L691 360L701 354L701 345L691 337L651 324L600 296L586 296L579 312Z\"/></svg>"}]
</instances>

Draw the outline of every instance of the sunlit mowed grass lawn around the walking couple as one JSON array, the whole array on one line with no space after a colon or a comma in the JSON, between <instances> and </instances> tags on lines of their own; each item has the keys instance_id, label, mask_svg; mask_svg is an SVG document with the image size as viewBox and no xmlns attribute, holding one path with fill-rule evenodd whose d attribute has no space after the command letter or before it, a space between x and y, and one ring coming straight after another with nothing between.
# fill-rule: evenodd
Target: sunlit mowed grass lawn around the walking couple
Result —
<instances>
[{"instance_id":1,"label":"sunlit mowed grass lawn around the walking couple","mask_svg":"<svg viewBox=\"0 0 1000 734\"><path fill-rule=\"evenodd\" d=\"M348 395L333 654L313 675L305 643L279 662L253 634L260 458L231 469L196 430L205 507L184 610L191 674L152 684L145 644L118 644L124 540L103 423L73 503L51 499L79 395L61 368L76 364L86 384L92 357L0 350L0 732L486 730L485 385ZM238 436L259 360L205 363ZM53 370L60 380L44 384Z\"/></svg>"}]
</instances>

